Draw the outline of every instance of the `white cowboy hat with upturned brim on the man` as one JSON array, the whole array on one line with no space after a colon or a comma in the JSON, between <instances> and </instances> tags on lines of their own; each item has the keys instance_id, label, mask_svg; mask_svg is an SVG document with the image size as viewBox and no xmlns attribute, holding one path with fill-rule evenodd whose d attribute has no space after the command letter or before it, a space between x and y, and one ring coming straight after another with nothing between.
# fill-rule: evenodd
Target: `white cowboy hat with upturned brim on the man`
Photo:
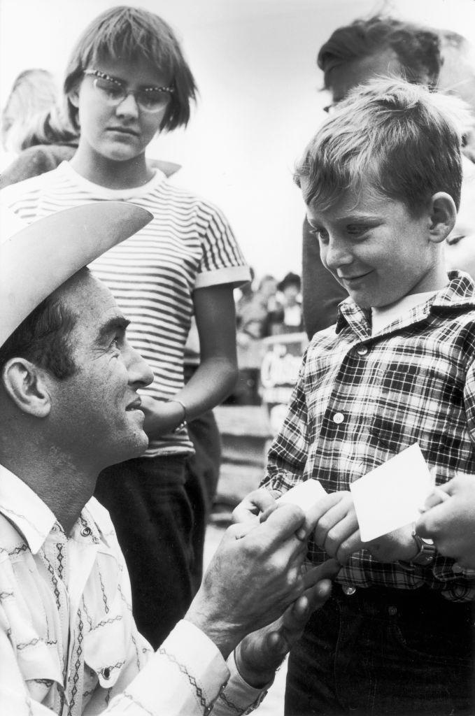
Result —
<instances>
[{"instance_id":1,"label":"white cowboy hat with upturned brim on the man","mask_svg":"<svg viewBox=\"0 0 475 716\"><path fill-rule=\"evenodd\" d=\"M29 225L11 215L1 209L0 346L58 286L152 219L123 201L82 204Z\"/></svg>"}]
</instances>

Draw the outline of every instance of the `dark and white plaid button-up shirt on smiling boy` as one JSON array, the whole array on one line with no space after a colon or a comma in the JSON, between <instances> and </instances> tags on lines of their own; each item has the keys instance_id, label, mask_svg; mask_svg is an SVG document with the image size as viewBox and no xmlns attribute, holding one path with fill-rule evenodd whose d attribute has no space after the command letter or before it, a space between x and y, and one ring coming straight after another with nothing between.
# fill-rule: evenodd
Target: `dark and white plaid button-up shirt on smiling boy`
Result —
<instances>
[{"instance_id":1,"label":"dark and white plaid button-up shirt on smiling boy","mask_svg":"<svg viewBox=\"0 0 475 716\"><path fill-rule=\"evenodd\" d=\"M418 442L436 483L475 475L475 284L453 271L425 303L371 335L371 314L351 299L335 326L312 339L284 425L269 451L263 485L286 491L318 478L327 492ZM475 477L474 477L475 480ZM325 553L310 543L312 561ZM436 553L432 566L378 563L352 555L337 577L347 586L415 589L475 599L475 578Z\"/></svg>"}]
</instances>

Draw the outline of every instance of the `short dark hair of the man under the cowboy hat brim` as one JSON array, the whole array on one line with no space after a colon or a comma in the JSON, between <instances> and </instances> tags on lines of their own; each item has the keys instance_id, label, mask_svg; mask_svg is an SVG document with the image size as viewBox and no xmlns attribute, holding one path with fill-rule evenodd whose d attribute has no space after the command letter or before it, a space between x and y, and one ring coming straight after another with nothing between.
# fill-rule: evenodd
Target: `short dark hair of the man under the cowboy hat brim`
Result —
<instances>
[{"instance_id":1,"label":"short dark hair of the man under the cowboy hat brim","mask_svg":"<svg viewBox=\"0 0 475 716\"><path fill-rule=\"evenodd\" d=\"M76 372L71 332L77 315L56 293L44 299L0 347L0 372L11 358L26 358L59 380Z\"/></svg>"}]
</instances>

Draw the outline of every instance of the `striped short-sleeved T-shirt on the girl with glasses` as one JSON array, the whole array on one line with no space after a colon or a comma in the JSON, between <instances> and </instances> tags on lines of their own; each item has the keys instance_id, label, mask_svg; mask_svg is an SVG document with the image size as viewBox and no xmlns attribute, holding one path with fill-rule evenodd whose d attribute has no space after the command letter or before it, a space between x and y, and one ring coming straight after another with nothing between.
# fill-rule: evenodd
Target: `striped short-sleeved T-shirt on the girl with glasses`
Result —
<instances>
[{"instance_id":1,"label":"striped short-sleeved T-shirt on the girl with glasses","mask_svg":"<svg viewBox=\"0 0 475 716\"><path fill-rule=\"evenodd\" d=\"M82 178L67 162L6 187L0 200L27 222L89 201L130 201L153 213L148 226L90 268L131 320L128 338L153 369L155 380L144 392L158 400L176 395L183 387L193 291L249 280L249 269L221 211L169 183L160 171L141 187L115 190ZM186 454L192 449L184 429L151 441L146 455Z\"/></svg>"}]
</instances>

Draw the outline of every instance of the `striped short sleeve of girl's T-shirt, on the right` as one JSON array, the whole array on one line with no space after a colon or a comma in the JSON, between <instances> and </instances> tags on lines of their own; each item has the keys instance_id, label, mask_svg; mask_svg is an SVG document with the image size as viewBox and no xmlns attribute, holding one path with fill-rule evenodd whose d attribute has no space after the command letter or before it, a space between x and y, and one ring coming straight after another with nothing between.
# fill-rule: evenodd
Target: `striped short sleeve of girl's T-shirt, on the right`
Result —
<instances>
[{"instance_id":1,"label":"striped short sleeve of girl's T-shirt, on the right","mask_svg":"<svg viewBox=\"0 0 475 716\"><path fill-rule=\"evenodd\" d=\"M218 284L231 284L236 288L250 281L249 266L246 266L224 214L212 205L203 208L206 209L201 240L203 256L195 288L205 289Z\"/></svg>"}]
</instances>

